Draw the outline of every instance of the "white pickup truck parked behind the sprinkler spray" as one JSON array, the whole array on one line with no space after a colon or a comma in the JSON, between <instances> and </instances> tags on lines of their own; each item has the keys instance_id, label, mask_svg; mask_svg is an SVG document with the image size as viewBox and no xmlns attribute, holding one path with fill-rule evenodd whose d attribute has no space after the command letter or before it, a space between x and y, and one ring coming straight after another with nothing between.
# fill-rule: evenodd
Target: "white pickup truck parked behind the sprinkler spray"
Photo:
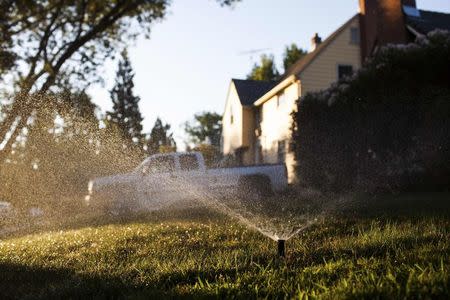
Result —
<instances>
[{"instance_id":1,"label":"white pickup truck parked behind the sprinkler spray","mask_svg":"<svg viewBox=\"0 0 450 300\"><path fill-rule=\"evenodd\" d=\"M118 213L204 196L261 198L286 186L284 164L207 169L201 153L177 152L152 155L127 174L90 180L85 200Z\"/></svg>"}]
</instances>

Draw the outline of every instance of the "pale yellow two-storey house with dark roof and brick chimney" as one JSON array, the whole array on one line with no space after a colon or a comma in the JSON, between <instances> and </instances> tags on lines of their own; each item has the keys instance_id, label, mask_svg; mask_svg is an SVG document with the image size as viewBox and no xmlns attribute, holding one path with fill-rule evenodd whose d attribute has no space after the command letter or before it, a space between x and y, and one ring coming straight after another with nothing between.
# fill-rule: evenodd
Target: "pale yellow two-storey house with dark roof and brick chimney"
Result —
<instances>
[{"instance_id":1,"label":"pale yellow two-storey house with dark roof and brick chimney","mask_svg":"<svg viewBox=\"0 0 450 300\"><path fill-rule=\"evenodd\" d=\"M305 93L351 75L379 47L405 44L440 28L450 14L418 10L415 0L359 0L360 12L324 41L315 34L311 51L276 82L232 79L222 126L222 152L242 164L286 163L295 179L289 149L291 113ZM301 168L301 166L298 166Z\"/></svg>"}]
</instances>

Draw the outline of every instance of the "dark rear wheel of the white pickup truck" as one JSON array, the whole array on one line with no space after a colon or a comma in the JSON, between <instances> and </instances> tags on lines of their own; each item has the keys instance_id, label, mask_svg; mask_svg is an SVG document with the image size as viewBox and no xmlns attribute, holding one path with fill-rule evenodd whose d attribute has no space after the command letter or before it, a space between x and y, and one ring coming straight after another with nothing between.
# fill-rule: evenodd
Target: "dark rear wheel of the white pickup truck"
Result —
<instances>
[{"instance_id":1,"label":"dark rear wheel of the white pickup truck","mask_svg":"<svg viewBox=\"0 0 450 300\"><path fill-rule=\"evenodd\" d=\"M262 200L273 195L270 179L265 175L242 177L238 186L239 195L243 199Z\"/></svg>"}]
</instances>

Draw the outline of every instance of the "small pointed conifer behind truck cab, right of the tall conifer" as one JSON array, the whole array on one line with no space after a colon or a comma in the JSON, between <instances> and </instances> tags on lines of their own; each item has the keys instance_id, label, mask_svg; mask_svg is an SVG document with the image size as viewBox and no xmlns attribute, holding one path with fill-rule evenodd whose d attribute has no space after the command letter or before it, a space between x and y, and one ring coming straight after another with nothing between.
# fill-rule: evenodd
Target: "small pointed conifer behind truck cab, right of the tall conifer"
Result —
<instances>
[{"instance_id":1,"label":"small pointed conifer behind truck cab, right of the tall conifer","mask_svg":"<svg viewBox=\"0 0 450 300\"><path fill-rule=\"evenodd\" d=\"M147 137L146 146L149 154L176 151L177 145L173 133L170 132L170 125L163 124L161 119L157 118Z\"/></svg>"}]
</instances>

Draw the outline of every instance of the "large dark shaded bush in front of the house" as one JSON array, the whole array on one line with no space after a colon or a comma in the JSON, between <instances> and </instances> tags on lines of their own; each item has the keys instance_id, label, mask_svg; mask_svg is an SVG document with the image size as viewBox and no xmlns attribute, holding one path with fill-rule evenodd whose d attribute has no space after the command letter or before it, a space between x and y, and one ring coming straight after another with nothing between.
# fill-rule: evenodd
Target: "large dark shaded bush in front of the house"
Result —
<instances>
[{"instance_id":1,"label":"large dark shaded bush in front of the house","mask_svg":"<svg viewBox=\"0 0 450 300\"><path fill-rule=\"evenodd\" d=\"M450 34L380 49L293 113L299 180L331 190L448 188Z\"/></svg>"}]
</instances>

